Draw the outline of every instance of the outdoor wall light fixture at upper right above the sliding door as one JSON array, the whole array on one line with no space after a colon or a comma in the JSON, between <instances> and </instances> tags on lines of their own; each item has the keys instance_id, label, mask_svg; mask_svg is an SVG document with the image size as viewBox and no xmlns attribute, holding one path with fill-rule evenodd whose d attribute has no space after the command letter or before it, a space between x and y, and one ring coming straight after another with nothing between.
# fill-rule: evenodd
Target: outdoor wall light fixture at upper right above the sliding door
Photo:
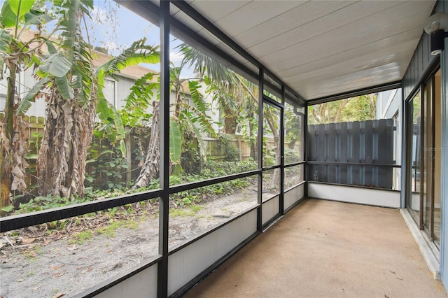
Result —
<instances>
[{"instance_id":1,"label":"outdoor wall light fixture at upper right above the sliding door","mask_svg":"<svg viewBox=\"0 0 448 298\"><path fill-rule=\"evenodd\" d=\"M425 31L430 35L431 55L437 56L444 50L444 38L448 36L448 14L435 13L425 24Z\"/></svg>"}]
</instances>

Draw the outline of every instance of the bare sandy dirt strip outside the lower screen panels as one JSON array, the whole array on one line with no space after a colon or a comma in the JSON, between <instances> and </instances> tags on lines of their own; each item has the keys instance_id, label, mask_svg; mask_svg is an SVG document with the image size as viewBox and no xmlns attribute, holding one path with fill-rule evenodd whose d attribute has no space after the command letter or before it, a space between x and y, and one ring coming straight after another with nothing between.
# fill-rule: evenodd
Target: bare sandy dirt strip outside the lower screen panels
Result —
<instances>
[{"instance_id":1,"label":"bare sandy dirt strip outside the lower screen panels","mask_svg":"<svg viewBox=\"0 0 448 298\"><path fill-rule=\"evenodd\" d=\"M256 194L256 187L248 187L190 208L173 208L169 248L255 206ZM122 218L115 226L99 215L51 234L46 225L0 234L0 298L69 297L155 257L157 206L144 216Z\"/></svg>"}]
</instances>

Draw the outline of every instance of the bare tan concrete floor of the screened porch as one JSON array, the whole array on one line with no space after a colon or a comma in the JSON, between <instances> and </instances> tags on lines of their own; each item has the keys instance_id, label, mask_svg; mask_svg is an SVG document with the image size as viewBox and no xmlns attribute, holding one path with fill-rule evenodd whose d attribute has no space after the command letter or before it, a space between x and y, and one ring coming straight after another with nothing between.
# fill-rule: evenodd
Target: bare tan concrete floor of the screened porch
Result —
<instances>
[{"instance_id":1,"label":"bare tan concrete floor of the screened porch","mask_svg":"<svg viewBox=\"0 0 448 298\"><path fill-rule=\"evenodd\" d=\"M447 297L400 212L307 199L184 297Z\"/></svg>"}]
</instances>

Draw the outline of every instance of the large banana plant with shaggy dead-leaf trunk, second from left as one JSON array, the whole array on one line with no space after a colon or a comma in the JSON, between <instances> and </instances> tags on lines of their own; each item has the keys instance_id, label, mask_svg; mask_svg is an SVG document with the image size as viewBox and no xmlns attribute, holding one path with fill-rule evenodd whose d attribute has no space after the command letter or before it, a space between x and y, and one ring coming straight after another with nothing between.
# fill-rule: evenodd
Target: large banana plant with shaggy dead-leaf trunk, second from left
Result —
<instances>
[{"instance_id":1,"label":"large banana plant with shaggy dead-leaf trunk, second from left","mask_svg":"<svg viewBox=\"0 0 448 298\"><path fill-rule=\"evenodd\" d=\"M73 198L84 194L87 152L97 117L105 126L113 127L125 155L125 130L116 109L104 97L104 79L127 66L158 63L159 54L157 47L145 45L146 39L142 39L95 69L94 53L80 33L82 17L89 17L93 2L70 0L61 6L66 12L59 20L62 41L47 43L48 55L37 73L41 80L27 99L46 97L45 129L38 155L39 192Z\"/></svg>"}]
</instances>

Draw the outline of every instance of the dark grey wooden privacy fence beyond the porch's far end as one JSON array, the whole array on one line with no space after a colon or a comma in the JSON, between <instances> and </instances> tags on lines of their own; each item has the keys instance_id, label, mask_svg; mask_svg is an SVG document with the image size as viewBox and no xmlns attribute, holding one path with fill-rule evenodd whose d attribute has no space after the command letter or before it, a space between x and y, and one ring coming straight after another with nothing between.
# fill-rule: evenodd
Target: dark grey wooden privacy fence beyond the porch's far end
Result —
<instances>
[{"instance_id":1,"label":"dark grey wooden privacy fence beyond the porch's far end","mask_svg":"<svg viewBox=\"0 0 448 298\"><path fill-rule=\"evenodd\" d=\"M308 125L308 180L393 187L393 119Z\"/></svg>"}]
</instances>

